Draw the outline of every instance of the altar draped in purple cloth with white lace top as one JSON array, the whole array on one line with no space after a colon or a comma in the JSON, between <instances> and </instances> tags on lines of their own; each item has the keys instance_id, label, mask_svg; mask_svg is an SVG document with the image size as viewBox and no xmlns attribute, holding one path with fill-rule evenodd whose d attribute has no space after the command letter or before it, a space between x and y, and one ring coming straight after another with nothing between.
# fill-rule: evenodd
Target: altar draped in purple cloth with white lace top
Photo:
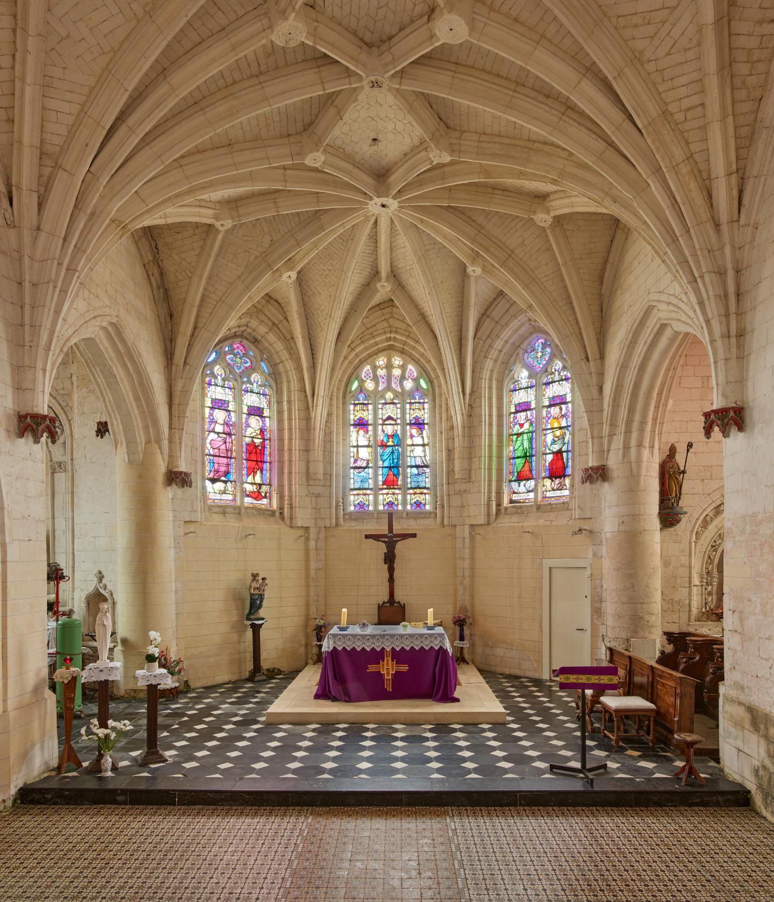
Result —
<instances>
[{"instance_id":1,"label":"altar draped in purple cloth with white lace top","mask_svg":"<svg viewBox=\"0 0 774 902\"><path fill-rule=\"evenodd\" d=\"M315 699L375 702L427 698L458 702L457 672L447 634L400 626L334 627L323 643Z\"/></svg>"}]
</instances>

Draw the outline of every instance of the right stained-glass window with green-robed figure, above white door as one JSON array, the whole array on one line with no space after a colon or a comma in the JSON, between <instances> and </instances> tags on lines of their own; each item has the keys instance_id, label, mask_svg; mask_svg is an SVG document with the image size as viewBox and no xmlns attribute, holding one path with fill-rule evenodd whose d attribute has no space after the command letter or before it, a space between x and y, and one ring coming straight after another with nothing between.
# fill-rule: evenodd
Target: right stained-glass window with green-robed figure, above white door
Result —
<instances>
[{"instance_id":1,"label":"right stained-glass window with green-robed figure, above white door","mask_svg":"<svg viewBox=\"0 0 774 902\"><path fill-rule=\"evenodd\" d=\"M507 436L507 503L566 501L572 472L572 380L542 336L531 340L514 368Z\"/></svg>"}]
</instances>

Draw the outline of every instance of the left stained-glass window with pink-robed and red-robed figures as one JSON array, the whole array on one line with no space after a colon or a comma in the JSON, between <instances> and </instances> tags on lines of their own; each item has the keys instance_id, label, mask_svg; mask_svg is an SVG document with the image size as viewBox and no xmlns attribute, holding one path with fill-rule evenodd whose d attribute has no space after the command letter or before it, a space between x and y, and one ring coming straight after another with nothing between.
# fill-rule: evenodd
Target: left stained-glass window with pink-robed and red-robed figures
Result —
<instances>
[{"instance_id":1,"label":"left stained-glass window with pink-robed and red-robed figures","mask_svg":"<svg viewBox=\"0 0 774 902\"><path fill-rule=\"evenodd\" d=\"M270 372L269 364L244 342L207 355L205 488L210 504L272 507Z\"/></svg>"}]
</instances>

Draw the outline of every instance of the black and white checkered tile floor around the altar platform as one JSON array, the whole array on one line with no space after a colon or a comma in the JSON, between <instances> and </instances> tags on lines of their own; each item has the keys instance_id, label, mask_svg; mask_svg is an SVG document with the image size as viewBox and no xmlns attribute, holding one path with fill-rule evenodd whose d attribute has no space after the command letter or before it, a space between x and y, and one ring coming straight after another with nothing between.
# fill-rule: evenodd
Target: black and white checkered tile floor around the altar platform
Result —
<instances>
[{"instance_id":1,"label":"black and white checkered tile floor around the altar platform","mask_svg":"<svg viewBox=\"0 0 774 902\"><path fill-rule=\"evenodd\" d=\"M294 675L289 675L290 678ZM266 709L288 677L195 689L161 701L159 747L170 761L151 769L135 761L145 744L142 700L118 700L111 716L134 730L116 750L122 774L157 771L165 777L206 778L525 778L566 780L551 762L579 763L572 693L539 679L484 674L508 712L503 724L288 724L267 725ZM94 716L96 703L85 706ZM76 721L75 730L80 723ZM78 737L81 759L93 749ZM681 760L665 747L630 740L615 749L598 730L588 737L590 763L608 762L613 778L672 778ZM698 759L705 776L720 777L711 759ZM88 779L74 774L71 779ZM572 778L571 778L572 779Z\"/></svg>"}]
</instances>

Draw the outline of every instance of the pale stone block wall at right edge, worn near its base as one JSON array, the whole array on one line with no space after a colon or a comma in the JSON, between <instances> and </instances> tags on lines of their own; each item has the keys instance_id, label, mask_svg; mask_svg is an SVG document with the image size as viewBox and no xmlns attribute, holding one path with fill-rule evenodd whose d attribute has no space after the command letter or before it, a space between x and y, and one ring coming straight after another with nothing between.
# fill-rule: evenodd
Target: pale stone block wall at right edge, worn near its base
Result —
<instances>
[{"instance_id":1,"label":"pale stone block wall at right edge, worn near its base","mask_svg":"<svg viewBox=\"0 0 774 902\"><path fill-rule=\"evenodd\" d=\"M742 284L742 433L723 439L725 685L721 755L774 818L774 198L763 207ZM716 435L716 434L715 434Z\"/></svg>"}]
</instances>

